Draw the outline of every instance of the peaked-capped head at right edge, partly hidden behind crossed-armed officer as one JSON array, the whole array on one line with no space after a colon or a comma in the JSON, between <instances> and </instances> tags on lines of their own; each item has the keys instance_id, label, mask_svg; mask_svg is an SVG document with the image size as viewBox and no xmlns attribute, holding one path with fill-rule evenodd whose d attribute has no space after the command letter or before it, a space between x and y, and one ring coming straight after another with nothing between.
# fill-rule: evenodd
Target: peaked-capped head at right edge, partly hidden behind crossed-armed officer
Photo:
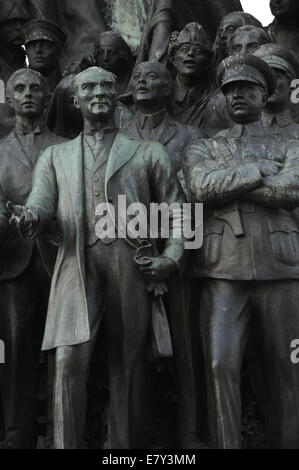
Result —
<instances>
[{"instance_id":1,"label":"peaked-capped head at right edge, partly hidden behind crossed-armed officer","mask_svg":"<svg viewBox=\"0 0 299 470\"><path fill-rule=\"evenodd\" d=\"M272 67L276 77L275 92L270 96L266 108L270 112L281 112L290 107L291 83L299 76L299 62L288 48L274 43L256 49L256 57Z\"/></svg>"}]
</instances>

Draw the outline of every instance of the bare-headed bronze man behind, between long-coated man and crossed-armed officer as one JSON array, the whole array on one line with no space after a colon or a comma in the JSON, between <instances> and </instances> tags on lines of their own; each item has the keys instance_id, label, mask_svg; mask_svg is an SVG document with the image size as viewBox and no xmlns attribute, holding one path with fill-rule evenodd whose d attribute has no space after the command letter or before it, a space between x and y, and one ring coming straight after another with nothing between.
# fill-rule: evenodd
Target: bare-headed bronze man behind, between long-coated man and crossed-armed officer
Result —
<instances>
[{"instance_id":1,"label":"bare-headed bronze man behind, between long-coated man and crossed-armed officer","mask_svg":"<svg viewBox=\"0 0 299 470\"><path fill-rule=\"evenodd\" d=\"M131 80L136 114L122 129L126 135L151 140L164 145L175 172L182 169L185 147L204 137L199 129L176 122L168 113L167 105L172 89L172 77L166 65L160 62L139 64ZM176 388L179 396L178 431L181 448L195 448L197 419L196 396L191 344L190 283L184 278L168 284L169 320L173 333L176 365ZM182 334L184 332L184 334ZM192 446L192 447L191 447Z\"/></svg>"}]
</instances>

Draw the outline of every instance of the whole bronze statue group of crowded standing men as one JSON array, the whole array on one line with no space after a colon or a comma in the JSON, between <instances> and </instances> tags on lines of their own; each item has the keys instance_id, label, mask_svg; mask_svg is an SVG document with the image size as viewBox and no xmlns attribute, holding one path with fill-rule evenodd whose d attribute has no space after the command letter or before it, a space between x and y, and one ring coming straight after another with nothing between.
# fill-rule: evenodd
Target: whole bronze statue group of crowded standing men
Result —
<instances>
[{"instance_id":1,"label":"whole bronze statue group of crowded standing men","mask_svg":"<svg viewBox=\"0 0 299 470\"><path fill-rule=\"evenodd\" d=\"M244 362L265 447L299 448L298 2L271 0L268 28L197 2L220 8L213 37L191 0L184 24L181 2L153 1L134 50L90 0L98 33L69 56L43 1L0 3L0 449L36 447L42 380L52 446L82 448L91 363L107 448L153 446L170 367L172 446L239 449ZM174 214L166 240L99 238L97 207L120 195L203 203L202 248Z\"/></svg>"}]
</instances>

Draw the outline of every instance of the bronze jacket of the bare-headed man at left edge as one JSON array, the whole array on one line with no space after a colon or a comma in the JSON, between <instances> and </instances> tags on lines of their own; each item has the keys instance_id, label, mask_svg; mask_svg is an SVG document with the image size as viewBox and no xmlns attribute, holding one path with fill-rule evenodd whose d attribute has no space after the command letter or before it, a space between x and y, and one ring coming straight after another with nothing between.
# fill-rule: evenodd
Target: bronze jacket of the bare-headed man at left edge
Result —
<instances>
[{"instance_id":1,"label":"bronze jacket of the bare-headed man at left edge","mask_svg":"<svg viewBox=\"0 0 299 470\"><path fill-rule=\"evenodd\" d=\"M49 145L65 139L45 130L28 136L26 150L20 144L15 131L0 140L0 189L5 201L24 205L32 189L33 170L39 154ZM2 204L2 214L6 214ZM15 279L22 274L30 263L34 242L24 240L17 229L8 224L6 233L2 232L0 280Z\"/></svg>"}]
</instances>

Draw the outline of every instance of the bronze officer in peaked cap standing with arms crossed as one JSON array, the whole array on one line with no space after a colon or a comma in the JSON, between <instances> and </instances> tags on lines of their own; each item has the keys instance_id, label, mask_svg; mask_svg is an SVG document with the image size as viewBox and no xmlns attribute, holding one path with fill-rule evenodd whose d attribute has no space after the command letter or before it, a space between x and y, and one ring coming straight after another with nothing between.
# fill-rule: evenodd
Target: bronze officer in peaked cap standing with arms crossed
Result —
<instances>
[{"instance_id":1,"label":"bronze officer in peaked cap standing with arms crossed","mask_svg":"<svg viewBox=\"0 0 299 470\"><path fill-rule=\"evenodd\" d=\"M218 71L234 121L186 150L192 200L207 205L197 276L204 280L201 336L209 424L217 448L241 446L240 372L250 333L265 382L268 444L297 448L299 369L290 345L299 334L299 145L268 135L262 110L274 93L261 59L231 56Z\"/></svg>"}]
</instances>

